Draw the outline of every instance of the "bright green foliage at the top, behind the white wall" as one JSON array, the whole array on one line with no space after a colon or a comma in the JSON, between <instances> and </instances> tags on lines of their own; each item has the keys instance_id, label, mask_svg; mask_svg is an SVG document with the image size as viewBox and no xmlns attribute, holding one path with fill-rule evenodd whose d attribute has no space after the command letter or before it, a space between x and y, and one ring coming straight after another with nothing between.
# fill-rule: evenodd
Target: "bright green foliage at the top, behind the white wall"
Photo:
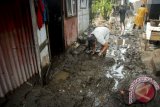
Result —
<instances>
[{"instance_id":1,"label":"bright green foliage at the top, behind the white wall","mask_svg":"<svg viewBox=\"0 0 160 107\"><path fill-rule=\"evenodd\" d=\"M105 15L108 15L111 10L111 0L93 0L92 2L92 14L100 13L101 16L106 17Z\"/></svg>"}]
</instances>

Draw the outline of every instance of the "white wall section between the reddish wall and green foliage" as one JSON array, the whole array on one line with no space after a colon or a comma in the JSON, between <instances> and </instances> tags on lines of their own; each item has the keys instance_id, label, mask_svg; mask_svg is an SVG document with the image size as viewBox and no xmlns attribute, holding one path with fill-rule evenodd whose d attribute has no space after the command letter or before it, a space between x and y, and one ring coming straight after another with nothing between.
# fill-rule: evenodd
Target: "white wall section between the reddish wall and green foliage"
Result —
<instances>
[{"instance_id":1,"label":"white wall section between the reddish wall and green foliage","mask_svg":"<svg viewBox=\"0 0 160 107\"><path fill-rule=\"evenodd\" d=\"M78 35L83 33L89 26L89 0L87 1L87 7L85 9L82 9L80 7L80 1L78 0ZM85 1L85 0L84 0Z\"/></svg>"}]
</instances>

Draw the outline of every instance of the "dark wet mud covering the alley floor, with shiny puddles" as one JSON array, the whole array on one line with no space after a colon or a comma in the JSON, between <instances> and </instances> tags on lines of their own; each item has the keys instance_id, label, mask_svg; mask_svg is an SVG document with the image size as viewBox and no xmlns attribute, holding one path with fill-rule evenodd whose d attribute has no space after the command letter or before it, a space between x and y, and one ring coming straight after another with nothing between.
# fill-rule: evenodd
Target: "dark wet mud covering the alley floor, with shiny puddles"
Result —
<instances>
[{"instance_id":1,"label":"dark wet mud covering the alley floor, with shiny puddles","mask_svg":"<svg viewBox=\"0 0 160 107\"><path fill-rule=\"evenodd\" d=\"M4 107L158 107L159 92L148 104L130 106L121 95L135 77L148 75L141 60L141 35L136 30L122 36L112 32L106 57L86 54L85 45L72 46L53 63L48 85L25 84Z\"/></svg>"}]
</instances>

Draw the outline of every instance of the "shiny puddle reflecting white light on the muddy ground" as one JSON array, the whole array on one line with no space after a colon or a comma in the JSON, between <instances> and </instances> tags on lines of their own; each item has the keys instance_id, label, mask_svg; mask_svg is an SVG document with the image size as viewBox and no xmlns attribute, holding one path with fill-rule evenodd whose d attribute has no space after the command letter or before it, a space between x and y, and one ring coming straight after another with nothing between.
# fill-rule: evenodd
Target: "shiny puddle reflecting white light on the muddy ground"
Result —
<instances>
[{"instance_id":1,"label":"shiny puddle reflecting white light on the muddy ground","mask_svg":"<svg viewBox=\"0 0 160 107\"><path fill-rule=\"evenodd\" d=\"M129 40L127 39L118 39L118 37L108 49L108 53L106 55L106 58L112 57L115 60L115 64L107 69L105 76L107 78L113 78L115 81L113 89L116 90L117 86L119 84L119 80L123 79L125 77L125 73L123 72L124 68L124 62L125 62L125 53L126 50L130 47Z\"/></svg>"}]
</instances>

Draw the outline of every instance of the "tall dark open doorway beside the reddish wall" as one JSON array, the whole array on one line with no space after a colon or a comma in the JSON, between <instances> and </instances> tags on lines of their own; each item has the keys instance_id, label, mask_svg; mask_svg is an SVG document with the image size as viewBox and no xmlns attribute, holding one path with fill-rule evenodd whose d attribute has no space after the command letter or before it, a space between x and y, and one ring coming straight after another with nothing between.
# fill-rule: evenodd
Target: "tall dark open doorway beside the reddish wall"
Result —
<instances>
[{"instance_id":1,"label":"tall dark open doorway beside the reddish wall","mask_svg":"<svg viewBox=\"0 0 160 107\"><path fill-rule=\"evenodd\" d=\"M48 33L51 57L59 55L65 50L63 34L63 0L47 0L48 5Z\"/></svg>"}]
</instances>

